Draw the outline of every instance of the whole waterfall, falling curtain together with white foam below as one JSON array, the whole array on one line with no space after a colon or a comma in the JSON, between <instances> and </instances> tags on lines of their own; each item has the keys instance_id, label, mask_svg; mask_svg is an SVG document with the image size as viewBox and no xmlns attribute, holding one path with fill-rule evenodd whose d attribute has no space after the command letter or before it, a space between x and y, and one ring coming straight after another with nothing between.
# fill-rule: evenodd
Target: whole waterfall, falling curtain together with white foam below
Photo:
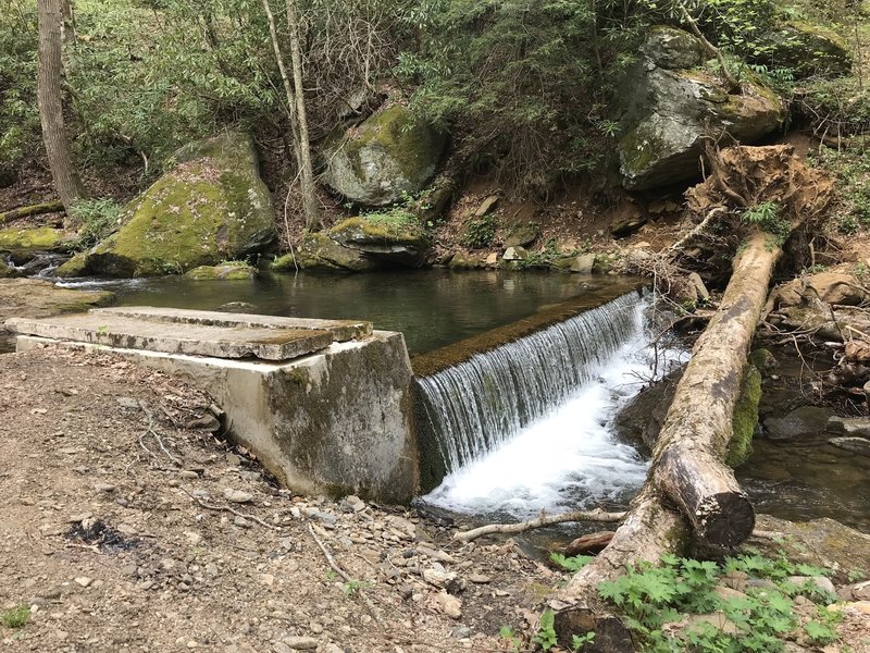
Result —
<instances>
[{"instance_id":1,"label":"whole waterfall, falling curtain together with white foam below","mask_svg":"<svg viewBox=\"0 0 870 653\"><path fill-rule=\"evenodd\" d=\"M647 463L611 421L652 374L647 306L632 293L421 379L448 470L423 501L518 519L626 502Z\"/></svg>"}]
</instances>

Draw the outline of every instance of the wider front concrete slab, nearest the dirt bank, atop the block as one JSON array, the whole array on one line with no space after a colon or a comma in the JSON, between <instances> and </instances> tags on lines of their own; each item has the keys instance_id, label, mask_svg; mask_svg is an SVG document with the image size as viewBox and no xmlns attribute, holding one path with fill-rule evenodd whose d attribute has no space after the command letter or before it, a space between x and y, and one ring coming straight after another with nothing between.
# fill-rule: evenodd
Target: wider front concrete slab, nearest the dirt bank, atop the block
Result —
<instances>
[{"instance_id":1,"label":"wider front concrete slab, nearest the dirt bank, atop the block","mask_svg":"<svg viewBox=\"0 0 870 653\"><path fill-rule=\"evenodd\" d=\"M216 358L288 360L328 347L334 333L315 329L261 326L212 326L208 324L146 321L133 317L91 311L47 320L13 318L8 331L61 341L185 354Z\"/></svg>"}]
</instances>

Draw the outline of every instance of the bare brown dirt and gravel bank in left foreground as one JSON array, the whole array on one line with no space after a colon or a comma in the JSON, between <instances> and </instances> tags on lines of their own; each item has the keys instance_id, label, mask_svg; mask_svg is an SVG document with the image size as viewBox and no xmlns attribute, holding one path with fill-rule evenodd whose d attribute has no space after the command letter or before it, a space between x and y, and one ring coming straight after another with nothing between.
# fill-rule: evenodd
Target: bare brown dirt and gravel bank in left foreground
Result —
<instances>
[{"instance_id":1,"label":"bare brown dirt and gravel bank in left foreground","mask_svg":"<svg viewBox=\"0 0 870 653\"><path fill-rule=\"evenodd\" d=\"M0 649L501 651L562 578L512 541L279 489L195 428L209 404L104 354L0 356L0 616L29 609Z\"/></svg>"}]
</instances>

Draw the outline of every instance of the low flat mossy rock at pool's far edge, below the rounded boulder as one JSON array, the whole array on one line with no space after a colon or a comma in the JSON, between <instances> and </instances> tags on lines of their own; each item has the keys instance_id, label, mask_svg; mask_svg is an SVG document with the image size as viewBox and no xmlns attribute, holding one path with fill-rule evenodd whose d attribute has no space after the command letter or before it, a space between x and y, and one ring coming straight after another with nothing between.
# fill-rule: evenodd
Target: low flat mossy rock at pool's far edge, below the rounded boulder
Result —
<instances>
[{"instance_id":1,"label":"low flat mossy rock at pool's far edge, below the rounded boulder","mask_svg":"<svg viewBox=\"0 0 870 653\"><path fill-rule=\"evenodd\" d=\"M330 230L336 243L370 259L418 268L432 243L413 220L381 221L375 217L350 218Z\"/></svg>"}]
</instances>

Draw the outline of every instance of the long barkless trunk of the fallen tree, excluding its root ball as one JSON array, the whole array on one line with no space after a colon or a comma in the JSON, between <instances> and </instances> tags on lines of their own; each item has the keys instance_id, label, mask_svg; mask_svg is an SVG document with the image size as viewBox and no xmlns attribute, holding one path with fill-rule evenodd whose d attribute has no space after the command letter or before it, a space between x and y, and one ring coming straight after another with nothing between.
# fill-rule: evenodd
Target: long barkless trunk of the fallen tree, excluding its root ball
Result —
<instances>
[{"instance_id":1,"label":"long barkless trunk of the fallen tree, excluding its root ball","mask_svg":"<svg viewBox=\"0 0 870 653\"><path fill-rule=\"evenodd\" d=\"M570 634L585 624L604 628L612 650L631 651L625 632L613 623L618 618L596 599L601 581L618 577L625 565L686 553L693 534L701 543L733 546L751 533L753 507L721 460L732 434L749 344L780 254L767 234L756 233L735 257L721 306L676 386L647 482L610 545L551 604L557 608L560 641L570 641ZM591 651L597 650L602 649L594 643Z\"/></svg>"}]
</instances>

